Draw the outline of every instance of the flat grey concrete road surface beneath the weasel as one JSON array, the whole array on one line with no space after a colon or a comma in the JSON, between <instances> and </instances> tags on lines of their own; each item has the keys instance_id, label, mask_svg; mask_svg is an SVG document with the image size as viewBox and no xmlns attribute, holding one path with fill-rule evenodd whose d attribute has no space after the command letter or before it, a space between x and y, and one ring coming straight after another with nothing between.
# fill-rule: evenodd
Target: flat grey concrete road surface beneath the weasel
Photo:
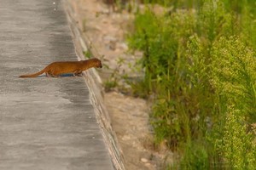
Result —
<instances>
[{"instance_id":1,"label":"flat grey concrete road surface beneath the weasel","mask_svg":"<svg viewBox=\"0 0 256 170\"><path fill-rule=\"evenodd\" d=\"M0 170L113 169L83 77L19 78L76 59L61 1L0 0Z\"/></svg>"}]
</instances>

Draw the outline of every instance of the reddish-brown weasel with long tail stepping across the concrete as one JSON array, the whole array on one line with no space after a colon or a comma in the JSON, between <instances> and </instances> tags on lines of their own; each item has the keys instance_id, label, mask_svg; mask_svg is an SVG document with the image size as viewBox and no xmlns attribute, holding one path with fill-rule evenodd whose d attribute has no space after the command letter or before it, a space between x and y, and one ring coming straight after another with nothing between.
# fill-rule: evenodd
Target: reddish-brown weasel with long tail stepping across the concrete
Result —
<instances>
[{"instance_id":1,"label":"reddish-brown weasel with long tail stepping across the concrete","mask_svg":"<svg viewBox=\"0 0 256 170\"><path fill-rule=\"evenodd\" d=\"M61 74L73 73L73 76L79 76L82 71L91 67L102 68L100 59L87 59L81 61L60 61L47 65L42 71L34 74L21 75L20 77L38 77L45 72L46 77L59 77Z\"/></svg>"}]
</instances>

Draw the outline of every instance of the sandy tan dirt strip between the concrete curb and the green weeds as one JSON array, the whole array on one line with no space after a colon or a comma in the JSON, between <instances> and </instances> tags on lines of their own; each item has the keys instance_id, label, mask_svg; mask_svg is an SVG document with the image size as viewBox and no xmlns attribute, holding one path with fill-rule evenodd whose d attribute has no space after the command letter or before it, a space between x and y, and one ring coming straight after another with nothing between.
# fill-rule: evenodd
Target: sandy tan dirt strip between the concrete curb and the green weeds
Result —
<instances>
[{"instance_id":1,"label":"sandy tan dirt strip between the concrete curb and the green weeds","mask_svg":"<svg viewBox=\"0 0 256 170\"><path fill-rule=\"evenodd\" d=\"M103 81L117 68L119 59L125 59L125 63L135 62L137 56L126 53L128 47L125 43L125 35L131 29L132 14L125 11L113 13L102 0L75 0L72 3L80 29L102 55L104 65L109 67L105 66L100 72ZM129 72L129 66L123 64L119 70ZM147 102L118 91L104 94L104 99L124 154L126 169L161 169L163 160L168 156L166 151L153 150Z\"/></svg>"}]
</instances>

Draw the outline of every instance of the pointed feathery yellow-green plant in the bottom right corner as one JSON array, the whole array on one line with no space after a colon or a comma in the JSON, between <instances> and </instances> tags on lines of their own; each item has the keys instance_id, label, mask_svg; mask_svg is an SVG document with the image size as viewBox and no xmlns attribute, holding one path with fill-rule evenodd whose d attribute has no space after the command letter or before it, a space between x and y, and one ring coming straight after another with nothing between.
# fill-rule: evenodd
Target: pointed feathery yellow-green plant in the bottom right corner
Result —
<instances>
[{"instance_id":1,"label":"pointed feathery yellow-green plant in the bottom right corner","mask_svg":"<svg viewBox=\"0 0 256 170\"><path fill-rule=\"evenodd\" d=\"M215 138L214 143L222 156L224 167L230 169L254 169L256 165L256 144L253 133L247 132L245 118L239 109L230 105L227 109L222 138Z\"/></svg>"}]
</instances>

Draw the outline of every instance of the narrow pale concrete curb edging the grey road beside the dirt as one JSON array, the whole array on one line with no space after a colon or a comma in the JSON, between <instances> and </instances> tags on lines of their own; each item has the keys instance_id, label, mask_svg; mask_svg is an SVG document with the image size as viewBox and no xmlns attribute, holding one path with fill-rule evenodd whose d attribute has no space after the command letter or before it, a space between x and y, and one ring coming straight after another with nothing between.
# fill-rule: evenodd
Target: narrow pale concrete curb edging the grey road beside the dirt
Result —
<instances>
[{"instance_id":1,"label":"narrow pale concrete curb edging the grey road beside the dirt","mask_svg":"<svg viewBox=\"0 0 256 170\"><path fill-rule=\"evenodd\" d=\"M69 1L65 1L64 8L67 13L67 21L73 33L73 42L79 60L84 59L83 52L86 51L90 51L93 57L99 58L99 54L96 48L93 47L92 42L90 42L84 32L79 30L72 4ZM108 151L113 161L113 167L118 170L124 170L124 157L122 156L116 134L111 127L108 111L103 103L102 79L95 69L84 71L84 79L90 90L90 102L94 106L96 119L101 126L102 136L108 146Z\"/></svg>"}]
</instances>

